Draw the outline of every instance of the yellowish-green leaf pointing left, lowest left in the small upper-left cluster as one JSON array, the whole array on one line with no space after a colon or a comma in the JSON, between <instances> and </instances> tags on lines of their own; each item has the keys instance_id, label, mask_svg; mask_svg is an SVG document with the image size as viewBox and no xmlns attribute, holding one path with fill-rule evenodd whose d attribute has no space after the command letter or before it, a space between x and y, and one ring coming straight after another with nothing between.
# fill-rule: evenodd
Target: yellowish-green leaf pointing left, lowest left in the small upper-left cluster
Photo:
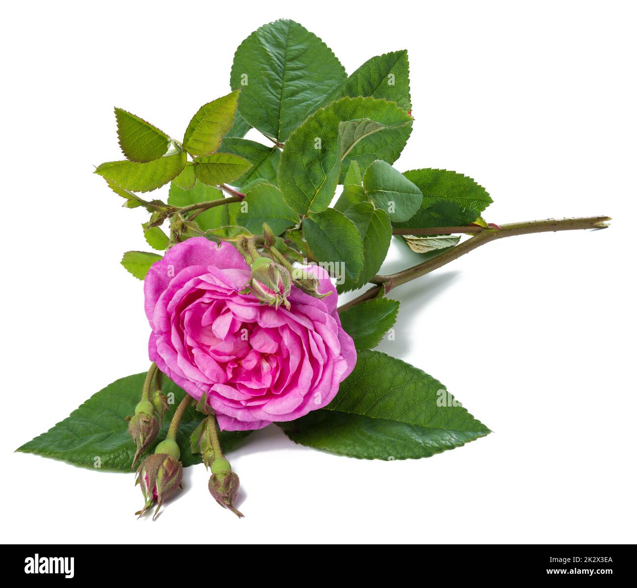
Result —
<instances>
[{"instance_id":1,"label":"yellowish-green leaf pointing left, lowest left in the small upper-left cluster","mask_svg":"<svg viewBox=\"0 0 637 588\"><path fill-rule=\"evenodd\" d=\"M168 184L186 165L186 154L176 153L148 163L109 161L96 170L104 179L133 192L150 192Z\"/></svg>"}]
</instances>

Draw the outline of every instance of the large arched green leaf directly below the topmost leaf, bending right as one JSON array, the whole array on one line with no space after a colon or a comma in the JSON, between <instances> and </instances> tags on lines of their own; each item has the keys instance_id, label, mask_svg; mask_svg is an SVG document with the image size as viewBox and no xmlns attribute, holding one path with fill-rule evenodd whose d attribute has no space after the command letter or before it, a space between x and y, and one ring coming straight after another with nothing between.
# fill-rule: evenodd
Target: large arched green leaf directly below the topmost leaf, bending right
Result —
<instances>
[{"instance_id":1,"label":"large arched green leaf directly below the topmost leaf, bending right","mask_svg":"<svg viewBox=\"0 0 637 588\"><path fill-rule=\"evenodd\" d=\"M368 119L360 124L366 124L369 133L341 127L341 122L359 119ZM372 128L369 121L378 124ZM373 98L343 98L318 110L285 143L278 173L285 202L299 214L325 210L352 161L366 170L377 158L396 160L412 122L395 104ZM348 152L341 150L341 131L347 133Z\"/></svg>"}]
</instances>

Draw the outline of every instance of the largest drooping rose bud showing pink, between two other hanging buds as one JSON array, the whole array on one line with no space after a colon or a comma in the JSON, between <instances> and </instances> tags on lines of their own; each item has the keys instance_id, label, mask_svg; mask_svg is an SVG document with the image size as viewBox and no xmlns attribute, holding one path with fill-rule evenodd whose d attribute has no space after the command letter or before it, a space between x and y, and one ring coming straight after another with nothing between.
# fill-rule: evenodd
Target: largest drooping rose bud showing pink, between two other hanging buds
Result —
<instances>
[{"instance_id":1,"label":"largest drooping rose bud showing pink, between two other hanging buds","mask_svg":"<svg viewBox=\"0 0 637 588\"><path fill-rule=\"evenodd\" d=\"M182 462L179 460L179 446L172 439L166 439L157 445L153 455L149 455L137 470L135 485L140 485L144 496L144 507L135 514L143 515L154 503L157 503L153 520L159 513L162 503L181 487L183 478Z\"/></svg>"}]
</instances>

